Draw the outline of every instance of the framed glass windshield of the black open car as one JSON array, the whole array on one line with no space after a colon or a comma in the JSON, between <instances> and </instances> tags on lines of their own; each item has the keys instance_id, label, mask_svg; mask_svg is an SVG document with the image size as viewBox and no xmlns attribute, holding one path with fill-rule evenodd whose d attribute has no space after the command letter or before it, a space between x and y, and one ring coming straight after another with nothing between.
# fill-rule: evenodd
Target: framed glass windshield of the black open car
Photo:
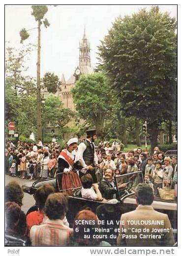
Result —
<instances>
[{"instance_id":1,"label":"framed glass windshield of the black open car","mask_svg":"<svg viewBox=\"0 0 182 256\"><path fill-rule=\"evenodd\" d=\"M126 194L132 193L135 191L136 186L139 183L143 183L143 174L142 172L134 172L122 174L115 176L115 182L117 185L117 190L120 194L120 197L123 197Z\"/></svg>"}]
</instances>

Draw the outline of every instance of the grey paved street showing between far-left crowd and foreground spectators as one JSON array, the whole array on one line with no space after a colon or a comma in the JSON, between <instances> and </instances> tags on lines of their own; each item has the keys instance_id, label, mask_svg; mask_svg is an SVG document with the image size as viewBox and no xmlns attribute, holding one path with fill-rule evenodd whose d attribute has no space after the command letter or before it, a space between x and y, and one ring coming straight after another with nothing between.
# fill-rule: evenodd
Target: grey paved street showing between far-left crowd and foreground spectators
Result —
<instances>
[{"instance_id":1,"label":"grey paved street showing between far-left crowd and foreground spectators","mask_svg":"<svg viewBox=\"0 0 182 256\"><path fill-rule=\"evenodd\" d=\"M12 181L16 181L18 182L21 186L22 185L27 185L27 186L31 186L31 184L34 182L30 182L29 180L22 180L22 179L19 179L19 178L15 178L15 177L11 177L9 175L5 175L5 185L9 182L12 182ZM33 198L33 195L29 195L27 193L24 193L24 198L23 198L23 205L21 207L22 211L25 212L25 214L27 213L27 211L29 210L29 208L35 204L35 200Z\"/></svg>"}]
</instances>

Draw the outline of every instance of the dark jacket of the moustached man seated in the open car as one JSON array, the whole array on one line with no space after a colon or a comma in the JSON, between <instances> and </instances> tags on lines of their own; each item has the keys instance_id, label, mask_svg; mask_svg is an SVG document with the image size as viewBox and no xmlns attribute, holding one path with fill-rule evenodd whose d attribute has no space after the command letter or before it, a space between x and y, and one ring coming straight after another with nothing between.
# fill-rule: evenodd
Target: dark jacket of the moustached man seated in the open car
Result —
<instances>
[{"instance_id":1,"label":"dark jacket of the moustached man seated in the open car","mask_svg":"<svg viewBox=\"0 0 182 256\"><path fill-rule=\"evenodd\" d=\"M103 179L99 184L99 189L102 196L105 199L113 199L113 195L117 192L117 190L112 186L110 181Z\"/></svg>"}]
</instances>

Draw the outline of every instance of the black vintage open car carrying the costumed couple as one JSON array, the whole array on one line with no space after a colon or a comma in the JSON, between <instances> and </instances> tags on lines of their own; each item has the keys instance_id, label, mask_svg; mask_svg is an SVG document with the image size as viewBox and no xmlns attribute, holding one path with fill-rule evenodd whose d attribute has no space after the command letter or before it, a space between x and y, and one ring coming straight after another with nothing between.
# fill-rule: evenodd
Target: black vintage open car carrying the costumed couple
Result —
<instances>
[{"instance_id":1,"label":"black vintage open car carrying the costumed couple","mask_svg":"<svg viewBox=\"0 0 182 256\"><path fill-rule=\"evenodd\" d=\"M90 199L82 198L81 196L81 188L82 187L73 187L69 189L62 189L61 188L61 175L57 175L56 179L46 179L41 181L36 181L32 184L31 187L23 186L24 192L29 194L35 195L36 189L43 184L49 183L53 185L55 188L59 187L60 192L69 192L69 199L68 199L68 212L66 214L67 220L70 226L73 225L74 218L78 211L84 209L86 207L91 208L93 212L95 212L99 219L114 219L120 220L121 214L135 210L136 209L136 199L135 199L135 187L138 183L144 182L142 172L135 172L135 173L128 173L124 175L120 175L118 177L114 177L117 193L116 193L116 200L114 203L108 202L100 202L94 201ZM56 182L57 186L56 186ZM122 189L118 189L118 185L120 183L126 183L126 187ZM70 191L71 190L71 193ZM171 221L172 227L174 229L177 228L177 202L175 200L164 200L160 197L155 197L152 206L155 210L165 213L169 216ZM32 206L28 213L31 211L37 210L37 206ZM27 214L28 214L27 213ZM115 221L116 223L116 221ZM117 227L117 226L116 226Z\"/></svg>"}]
</instances>

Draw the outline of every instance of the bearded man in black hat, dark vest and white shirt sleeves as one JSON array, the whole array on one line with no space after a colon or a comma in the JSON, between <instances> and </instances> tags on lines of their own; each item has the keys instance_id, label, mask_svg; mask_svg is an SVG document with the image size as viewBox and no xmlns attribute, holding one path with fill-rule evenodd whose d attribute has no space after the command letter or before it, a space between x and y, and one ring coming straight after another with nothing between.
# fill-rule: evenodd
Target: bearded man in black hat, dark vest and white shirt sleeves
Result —
<instances>
[{"instance_id":1,"label":"bearded man in black hat, dark vest and white shirt sleeves","mask_svg":"<svg viewBox=\"0 0 182 256\"><path fill-rule=\"evenodd\" d=\"M95 166L98 166L98 158L95 152L94 140L97 139L96 130L90 129L86 131L87 140L80 143L78 146L78 157L80 165L87 169L87 173L91 174L93 183L97 183L95 176ZM83 173L80 171L80 177L83 176Z\"/></svg>"}]
</instances>

